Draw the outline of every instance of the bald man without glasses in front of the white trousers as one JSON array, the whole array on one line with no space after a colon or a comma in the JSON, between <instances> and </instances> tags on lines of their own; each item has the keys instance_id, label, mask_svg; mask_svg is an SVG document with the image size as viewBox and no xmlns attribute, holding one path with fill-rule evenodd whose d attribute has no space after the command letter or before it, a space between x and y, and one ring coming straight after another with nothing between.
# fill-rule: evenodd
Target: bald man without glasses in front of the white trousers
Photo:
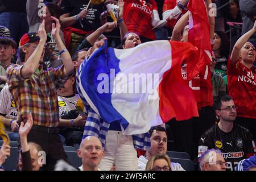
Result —
<instances>
[{"instance_id":1,"label":"bald man without glasses in front of the white trousers","mask_svg":"<svg viewBox=\"0 0 256 182\"><path fill-rule=\"evenodd\" d=\"M101 141L97 137L86 137L82 140L77 155L82 159L81 171L100 171L98 164L104 156Z\"/></svg>"}]
</instances>

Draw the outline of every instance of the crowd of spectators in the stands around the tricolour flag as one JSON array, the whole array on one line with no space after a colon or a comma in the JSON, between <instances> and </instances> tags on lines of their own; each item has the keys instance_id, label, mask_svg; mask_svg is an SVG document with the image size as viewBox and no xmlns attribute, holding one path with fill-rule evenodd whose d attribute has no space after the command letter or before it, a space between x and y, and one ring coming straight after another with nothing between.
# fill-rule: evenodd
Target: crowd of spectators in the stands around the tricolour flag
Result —
<instances>
[{"instance_id":1,"label":"crowd of spectators in the stands around the tricolour flag","mask_svg":"<svg viewBox=\"0 0 256 182\"><path fill-rule=\"evenodd\" d=\"M106 39L118 49L188 42L189 1L0 0L0 122L19 142L16 170L53 170L58 160L68 161L64 145L77 147L81 171L184 171L166 155L168 148L187 152L202 171L255 169L255 0L201 0L217 14L208 13L214 104L204 102L202 75L191 80L196 86L188 82L199 117L152 128L144 136L148 151L137 150L135 135L123 135L119 122L111 123L105 143L85 137L86 121L102 118L77 92L82 61ZM109 4L119 6L116 21ZM181 74L187 78L187 64ZM10 148L3 143L0 166ZM38 159L39 151L46 161Z\"/></svg>"}]
</instances>

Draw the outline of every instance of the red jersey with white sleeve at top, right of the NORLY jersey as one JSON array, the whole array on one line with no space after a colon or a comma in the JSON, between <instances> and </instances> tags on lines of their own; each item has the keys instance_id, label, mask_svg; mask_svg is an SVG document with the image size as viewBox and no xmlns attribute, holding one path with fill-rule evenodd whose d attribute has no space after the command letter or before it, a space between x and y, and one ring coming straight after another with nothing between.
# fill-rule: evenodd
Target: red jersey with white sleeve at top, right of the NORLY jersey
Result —
<instances>
[{"instance_id":1,"label":"red jersey with white sleeve at top, right of the NORLY jersey","mask_svg":"<svg viewBox=\"0 0 256 182\"><path fill-rule=\"evenodd\" d=\"M167 11L167 10L172 10L175 8L175 6L177 6L177 3L179 3L181 0L164 0L164 3L163 3L163 13L164 11ZM167 19L167 24L166 26L167 27L170 27L170 28L174 28L177 20L180 19L180 17L182 15L184 15L185 13L187 13L188 10L182 10L182 13L179 15L179 17L177 19Z\"/></svg>"}]
</instances>

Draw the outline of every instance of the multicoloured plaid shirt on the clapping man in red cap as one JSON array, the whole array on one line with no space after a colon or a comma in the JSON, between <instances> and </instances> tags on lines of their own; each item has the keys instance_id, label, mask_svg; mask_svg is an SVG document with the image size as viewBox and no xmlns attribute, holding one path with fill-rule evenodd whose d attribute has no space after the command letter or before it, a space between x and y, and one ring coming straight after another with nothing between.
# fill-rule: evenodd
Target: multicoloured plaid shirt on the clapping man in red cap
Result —
<instances>
[{"instance_id":1,"label":"multicoloured plaid shirt on the clapping man in red cap","mask_svg":"<svg viewBox=\"0 0 256 182\"><path fill-rule=\"evenodd\" d=\"M10 65L7 82L18 110L18 123L26 122L32 113L34 125L56 127L59 123L59 106L55 85L64 75L64 67L47 69L42 65L27 79L21 76L23 65Z\"/></svg>"}]
</instances>

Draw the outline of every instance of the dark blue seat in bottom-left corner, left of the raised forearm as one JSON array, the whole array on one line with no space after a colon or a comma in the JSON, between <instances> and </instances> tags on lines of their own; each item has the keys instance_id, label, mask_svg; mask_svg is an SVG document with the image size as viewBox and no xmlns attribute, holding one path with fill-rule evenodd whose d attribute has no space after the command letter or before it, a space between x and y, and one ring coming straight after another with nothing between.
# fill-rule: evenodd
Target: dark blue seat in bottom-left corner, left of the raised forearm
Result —
<instances>
[{"instance_id":1,"label":"dark blue seat in bottom-left corner, left of the raised forearm","mask_svg":"<svg viewBox=\"0 0 256 182\"><path fill-rule=\"evenodd\" d=\"M11 147L11 155L3 163L5 171L13 171L18 167L19 151L18 147Z\"/></svg>"}]
</instances>

